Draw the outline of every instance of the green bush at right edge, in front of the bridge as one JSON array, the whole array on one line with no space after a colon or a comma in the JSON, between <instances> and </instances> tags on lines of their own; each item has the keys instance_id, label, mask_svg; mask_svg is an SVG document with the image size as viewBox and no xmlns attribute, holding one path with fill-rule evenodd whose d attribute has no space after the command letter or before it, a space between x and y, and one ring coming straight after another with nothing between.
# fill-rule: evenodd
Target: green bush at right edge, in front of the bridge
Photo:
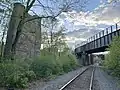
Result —
<instances>
[{"instance_id":1,"label":"green bush at right edge, in front of the bridge","mask_svg":"<svg viewBox=\"0 0 120 90\"><path fill-rule=\"evenodd\" d=\"M104 66L112 71L112 74L120 77L120 37L115 37L109 46L110 53L106 55Z\"/></svg>"}]
</instances>

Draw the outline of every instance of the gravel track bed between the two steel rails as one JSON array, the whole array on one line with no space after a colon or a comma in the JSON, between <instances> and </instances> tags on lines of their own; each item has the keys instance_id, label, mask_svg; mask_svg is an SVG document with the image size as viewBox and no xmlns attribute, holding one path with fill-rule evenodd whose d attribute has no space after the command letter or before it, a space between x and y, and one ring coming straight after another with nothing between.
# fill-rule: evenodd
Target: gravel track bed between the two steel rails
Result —
<instances>
[{"instance_id":1,"label":"gravel track bed between the two steel rails","mask_svg":"<svg viewBox=\"0 0 120 90\"><path fill-rule=\"evenodd\" d=\"M89 68L72 83L70 83L64 90L89 90L91 75L92 68Z\"/></svg>"}]
</instances>

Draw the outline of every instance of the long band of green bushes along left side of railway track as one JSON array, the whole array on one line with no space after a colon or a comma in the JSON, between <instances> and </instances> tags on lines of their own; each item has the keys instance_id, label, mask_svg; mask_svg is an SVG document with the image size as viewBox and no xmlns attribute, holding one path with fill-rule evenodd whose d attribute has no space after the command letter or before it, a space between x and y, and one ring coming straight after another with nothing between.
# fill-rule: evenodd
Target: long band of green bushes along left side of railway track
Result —
<instances>
[{"instance_id":1,"label":"long band of green bushes along left side of railway track","mask_svg":"<svg viewBox=\"0 0 120 90\"><path fill-rule=\"evenodd\" d=\"M69 72L77 67L75 56L70 53L54 55L41 51L41 55L33 60L15 59L1 60L0 85L10 88L25 88L30 81Z\"/></svg>"}]
</instances>

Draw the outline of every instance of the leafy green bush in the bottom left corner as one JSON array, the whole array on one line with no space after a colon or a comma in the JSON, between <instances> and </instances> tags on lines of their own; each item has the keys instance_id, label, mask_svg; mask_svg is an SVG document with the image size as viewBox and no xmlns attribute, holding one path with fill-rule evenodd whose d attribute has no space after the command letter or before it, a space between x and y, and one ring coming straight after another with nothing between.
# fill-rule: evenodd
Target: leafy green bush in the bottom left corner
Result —
<instances>
[{"instance_id":1,"label":"leafy green bush in the bottom left corner","mask_svg":"<svg viewBox=\"0 0 120 90\"><path fill-rule=\"evenodd\" d=\"M0 63L1 86L25 88L28 85L28 81L34 78L34 72L28 69L28 65L25 65L25 61L23 63L18 63L18 60Z\"/></svg>"}]
</instances>

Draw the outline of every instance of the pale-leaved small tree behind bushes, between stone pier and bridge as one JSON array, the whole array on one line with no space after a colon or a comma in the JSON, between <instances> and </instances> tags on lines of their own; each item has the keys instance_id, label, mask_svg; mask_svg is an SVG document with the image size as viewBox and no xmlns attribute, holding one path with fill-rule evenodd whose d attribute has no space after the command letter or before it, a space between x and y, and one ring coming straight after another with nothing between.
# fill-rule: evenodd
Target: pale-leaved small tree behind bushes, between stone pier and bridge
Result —
<instances>
[{"instance_id":1,"label":"pale-leaved small tree behind bushes, between stone pier and bridge","mask_svg":"<svg viewBox=\"0 0 120 90\"><path fill-rule=\"evenodd\" d=\"M54 55L60 55L61 52L67 51L67 45L65 42L65 35L64 35L65 28L61 27L59 30L55 28L52 32L44 32L42 43L44 45L44 50L53 53Z\"/></svg>"}]
</instances>

